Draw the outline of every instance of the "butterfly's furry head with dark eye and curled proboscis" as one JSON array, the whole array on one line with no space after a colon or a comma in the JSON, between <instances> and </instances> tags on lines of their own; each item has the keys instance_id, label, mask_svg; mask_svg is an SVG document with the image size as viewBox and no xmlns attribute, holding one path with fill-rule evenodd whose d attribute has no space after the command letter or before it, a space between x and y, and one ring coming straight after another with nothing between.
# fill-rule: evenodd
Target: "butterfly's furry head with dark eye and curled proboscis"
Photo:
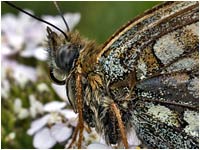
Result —
<instances>
[{"instance_id":1,"label":"butterfly's furry head with dark eye and curled proboscis","mask_svg":"<svg viewBox=\"0 0 200 150\"><path fill-rule=\"evenodd\" d=\"M67 33L67 39L47 27L50 77L57 84L65 84L83 47L78 33Z\"/></svg>"}]
</instances>

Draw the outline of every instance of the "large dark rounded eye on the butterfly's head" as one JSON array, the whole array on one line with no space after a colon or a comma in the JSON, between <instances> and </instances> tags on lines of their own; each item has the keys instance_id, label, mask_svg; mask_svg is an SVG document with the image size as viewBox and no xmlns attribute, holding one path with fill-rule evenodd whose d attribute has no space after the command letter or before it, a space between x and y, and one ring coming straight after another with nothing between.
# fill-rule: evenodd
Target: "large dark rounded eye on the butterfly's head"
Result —
<instances>
[{"instance_id":1,"label":"large dark rounded eye on the butterfly's head","mask_svg":"<svg viewBox=\"0 0 200 150\"><path fill-rule=\"evenodd\" d=\"M63 70L64 72L69 73L73 67L74 60L77 59L79 55L79 50L73 48L73 46L63 46L59 49L58 54L56 55L56 65Z\"/></svg>"}]
</instances>

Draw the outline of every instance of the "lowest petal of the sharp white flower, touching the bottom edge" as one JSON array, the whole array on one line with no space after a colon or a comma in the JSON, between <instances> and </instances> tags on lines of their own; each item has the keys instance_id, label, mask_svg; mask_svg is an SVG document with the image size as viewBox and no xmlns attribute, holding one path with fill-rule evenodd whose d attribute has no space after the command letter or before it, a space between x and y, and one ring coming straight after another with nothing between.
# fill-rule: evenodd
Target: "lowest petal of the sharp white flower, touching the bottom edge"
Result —
<instances>
[{"instance_id":1,"label":"lowest petal of the sharp white flower, touching the bottom edge","mask_svg":"<svg viewBox=\"0 0 200 150\"><path fill-rule=\"evenodd\" d=\"M35 148L52 148L56 140L51 135L49 128L43 128L33 137L33 146Z\"/></svg>"}]
</instances>

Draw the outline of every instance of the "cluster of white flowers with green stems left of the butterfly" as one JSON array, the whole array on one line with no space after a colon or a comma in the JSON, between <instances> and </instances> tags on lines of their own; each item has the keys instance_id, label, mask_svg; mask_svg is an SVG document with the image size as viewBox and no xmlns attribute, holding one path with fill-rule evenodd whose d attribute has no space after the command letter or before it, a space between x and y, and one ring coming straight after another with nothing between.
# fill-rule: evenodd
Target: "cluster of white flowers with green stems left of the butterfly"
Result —
<instances>
[{"instance_id":1,"label":"cluster of white flowers with green stems left of the butterfly","mask_svg":"<svg viewBox=\"0 0 200 150\"><path fill-rule=\"evenodd\" d=\"M64 17L69 22L70 29L80 20L79 13L67 13ZM42 16L42 19L65 28L60 16ZM24 126L27 134L33 136L35 148L52 148L56 143L63 144L71 137L77 123L77 115L68 106L65 87L44 80L43 76L47 75L40 64L47 61L47 52L43 46L43 41L46 40L45 30L45 24L22 13L17 16L2 16L1 89L2 118L5 118L5 121L2 121L4 145L10 145L14 139L17 140L17 127L14 124L20 124L22 121L33 120L32 123L28 122L29 129ZM35 64L32 63L33 60ZM8 118L6 112L10 114ZM14 120L11 129L4 124L6 119Z\"/></svg>"}]
</instances>

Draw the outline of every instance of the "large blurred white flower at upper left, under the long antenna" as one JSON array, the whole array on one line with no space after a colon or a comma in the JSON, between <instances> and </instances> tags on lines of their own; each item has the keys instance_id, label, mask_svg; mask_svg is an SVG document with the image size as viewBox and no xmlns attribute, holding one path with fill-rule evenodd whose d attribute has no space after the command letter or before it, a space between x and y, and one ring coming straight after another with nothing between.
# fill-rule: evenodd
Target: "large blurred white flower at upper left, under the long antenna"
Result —
<instances>
[{"instance_id":1,"label":"large blurred white flower at upper left, under the long antenna","mask_svg":"<svg viewBox=\"0 0 200 150\"><path fill-rule=\"evenodd\" d=\"M13 51L19 52L23 46L25 49L26 47L35 48L42 43L46 36L43 34L44 26L41 25L41 22L21 12L18 16L12 14L2 16L1 25L1 30L7 41L5 45L13 47Z\"/></svg>"}]
</instances>

